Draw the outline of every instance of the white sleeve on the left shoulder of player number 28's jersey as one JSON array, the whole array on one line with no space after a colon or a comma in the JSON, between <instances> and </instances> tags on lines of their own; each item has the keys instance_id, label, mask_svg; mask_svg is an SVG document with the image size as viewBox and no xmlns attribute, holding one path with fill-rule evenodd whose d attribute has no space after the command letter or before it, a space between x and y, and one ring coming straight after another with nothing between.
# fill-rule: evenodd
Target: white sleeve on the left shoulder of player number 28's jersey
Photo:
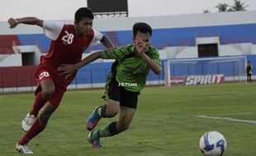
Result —
<instances>
[{"instance_id":1,"label":"white sleeve on the left shoulder of player number 28's jersey","mask_svg":"<svg viewBox=\"0 0 256 156\"><path fill-rule=\"evenodd\" d=\"M43 30L45 36L49 39L56 40L59 37L61 30L64 27L64 23L59 21L44 21Z\"/></svg>"}]
</instances>

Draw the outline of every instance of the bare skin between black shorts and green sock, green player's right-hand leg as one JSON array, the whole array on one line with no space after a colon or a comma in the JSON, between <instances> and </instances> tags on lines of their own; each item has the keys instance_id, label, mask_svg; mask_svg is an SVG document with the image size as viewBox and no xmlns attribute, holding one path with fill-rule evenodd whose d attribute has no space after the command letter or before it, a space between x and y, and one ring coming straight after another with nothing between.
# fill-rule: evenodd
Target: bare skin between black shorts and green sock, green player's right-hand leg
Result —
<instances>
[{"instance_id":1,"label":"bare skin between black shorts and green sock, green player's right-hand leg","mask_svg":"<svg viewBox=\"0 0 256 156\"><path fill-rule=\"evenodd\" d=\"M121 106L118 124L120 126L129 126L130 122L132 121L132 118L135 115L135 110L135 108L126 108Z\"/></svg>"}]
</instances>

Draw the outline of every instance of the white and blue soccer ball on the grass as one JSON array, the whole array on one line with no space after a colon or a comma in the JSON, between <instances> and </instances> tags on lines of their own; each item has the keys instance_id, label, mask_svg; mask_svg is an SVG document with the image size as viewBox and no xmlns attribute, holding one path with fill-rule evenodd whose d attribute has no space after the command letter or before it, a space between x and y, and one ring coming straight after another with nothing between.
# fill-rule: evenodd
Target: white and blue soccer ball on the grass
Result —
<instances>
[{"instance_id":1,"label":"white and blue soccer ball on the grass","mask_svg":"<svg viewBox=\"0 0 256 156\"><path fill-rule=\"evenodd\" d=\"M221 156L226 149L225 137L218 131L208 131L201 136L199 148L205 156Z\"/></svg>"}]
</instances>

